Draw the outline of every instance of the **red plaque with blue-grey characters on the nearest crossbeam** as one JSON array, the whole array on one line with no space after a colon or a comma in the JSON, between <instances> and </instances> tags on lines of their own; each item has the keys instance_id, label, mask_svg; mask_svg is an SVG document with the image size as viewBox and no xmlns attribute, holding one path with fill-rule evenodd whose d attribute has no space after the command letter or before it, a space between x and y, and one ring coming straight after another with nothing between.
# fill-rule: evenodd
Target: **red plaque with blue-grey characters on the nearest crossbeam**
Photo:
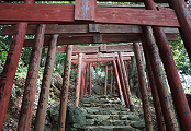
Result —
<instances>
[{"instance_id":1,"label":"red plaque with blue-grey characters on the nearest crossbeam","mask_svg":"<svg viewBox=\"0 0 191 131\"><path fill-rule=\"evenodd\" d=\"M97 0L75 0L75 20L94 20Z\"/></svg>"}]
</instances>

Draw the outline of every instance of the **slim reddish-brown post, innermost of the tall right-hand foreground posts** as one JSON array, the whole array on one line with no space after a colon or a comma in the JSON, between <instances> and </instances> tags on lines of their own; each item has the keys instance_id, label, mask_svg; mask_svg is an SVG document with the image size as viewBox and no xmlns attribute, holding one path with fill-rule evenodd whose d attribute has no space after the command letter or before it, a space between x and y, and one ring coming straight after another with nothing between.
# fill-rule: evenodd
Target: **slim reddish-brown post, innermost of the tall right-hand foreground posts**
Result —
<instances>
[{"instance_id":1,"label":"slim reddish-brown post, innermost of the tall right-hand foreground posts","mask_svg":"<svg viewBox=\"0 0 191 131\"><path fill-rule=\"evenodd\" d=\"M138 72L139 91L141 91L141 95L142 95L145 126L146 126L147 131L153 131L151 116L149 112L148 94L147 94L146 81L145 81L145 71L143 68L139 44L133 43L133 47L134 47L136 67L137 67L137 72Z\"/></svg>"}]
</instances>

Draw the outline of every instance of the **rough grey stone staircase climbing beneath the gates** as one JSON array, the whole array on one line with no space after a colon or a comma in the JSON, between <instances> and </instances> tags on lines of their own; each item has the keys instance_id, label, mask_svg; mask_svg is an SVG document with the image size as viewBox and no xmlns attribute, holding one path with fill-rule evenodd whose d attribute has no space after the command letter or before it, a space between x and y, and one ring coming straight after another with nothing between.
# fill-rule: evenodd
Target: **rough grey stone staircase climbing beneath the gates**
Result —
<instances>
[{"instance_id":1,"label":"rough grey stone staircase climbing beneath the gates","mask_svg":"<svg viewBox=\"0 0 191 131\"><path fill-rule=\"evenodd\" d=\"M121 104L117 96L89 96L80 102L85 131L146 131L144 119Z\"/></svg>"}]
</instances>

